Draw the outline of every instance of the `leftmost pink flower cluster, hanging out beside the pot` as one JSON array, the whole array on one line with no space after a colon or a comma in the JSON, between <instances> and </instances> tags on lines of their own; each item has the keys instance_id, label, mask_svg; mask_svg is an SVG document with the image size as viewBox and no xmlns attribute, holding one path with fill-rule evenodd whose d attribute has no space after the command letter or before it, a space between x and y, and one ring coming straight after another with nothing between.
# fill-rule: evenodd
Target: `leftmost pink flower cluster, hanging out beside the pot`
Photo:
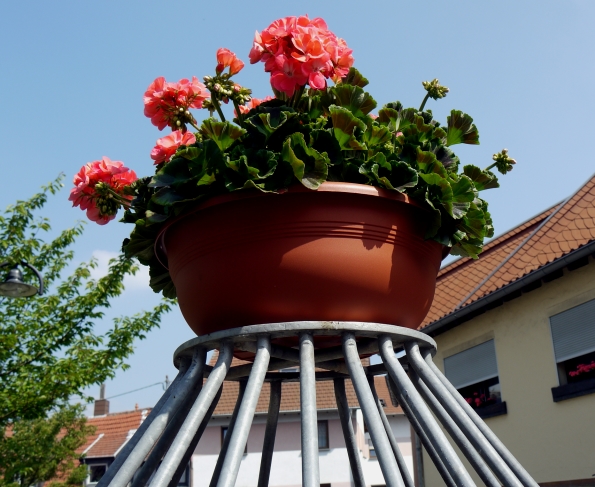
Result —
<instances>
[{"instance_id":1,"label":"leftmost pink flower cluster, hanging out beside the pot","mask_svg":"<svg viewBox=\"0 0 595 487\"><path fill-rule=\"evenodd\" d=\"M137 179L135 172L122 162L103 156L101 161L89 162L75 174L68 200L72 206L87 210L89 220L105 225L116 217L121 202L132 199L123 190ZM99 183L103 184L96 188Z\"/></svg>"}]
</instances>

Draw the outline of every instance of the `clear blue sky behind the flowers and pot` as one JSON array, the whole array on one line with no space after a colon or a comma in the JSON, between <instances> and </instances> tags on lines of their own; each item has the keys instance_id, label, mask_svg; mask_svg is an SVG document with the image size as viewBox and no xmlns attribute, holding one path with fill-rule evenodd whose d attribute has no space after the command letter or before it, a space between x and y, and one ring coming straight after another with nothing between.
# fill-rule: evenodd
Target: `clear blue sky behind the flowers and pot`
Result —
<instances>
[{"instance_id":1,"label":"clear blue sky behind the flowers and pot","mask_svg":"<svg viewBox=\"0 0 595 487\"><path fill-rule=\"evenodd\" d=\"M150 150L166 134L143 116L142 95L154 78L211 74L219 47L247 62L254 31L287 15L323 17L354 50L379 105L419 106L421 82L439 78L451 91L428 108L443 122L451 109L463 110L480 132L480 146L456 148L464 163L485 167L493 153L509 149L517 166L500 189L484 194L497 234L564 199L595 172L590 0L25 0L5 2L1 12L0 207L64 172L66 187L44 212L56 230L84 217L67 201L84 163L107 155L139 175L152 172ZM270 94L262 65L247 65L237 81L257 97ZM117 222L88 224L77 260L95 253L105 261L129 230ZM145 277L129 282L113 314L156 302ZM172 353L192 336L179 312L171 313L138 345L131 368L107 384L107 396L166 374L171 379ZM155 386L115 398L112 411L151 406L161 392Z\"/></svg>"}]
</instances>

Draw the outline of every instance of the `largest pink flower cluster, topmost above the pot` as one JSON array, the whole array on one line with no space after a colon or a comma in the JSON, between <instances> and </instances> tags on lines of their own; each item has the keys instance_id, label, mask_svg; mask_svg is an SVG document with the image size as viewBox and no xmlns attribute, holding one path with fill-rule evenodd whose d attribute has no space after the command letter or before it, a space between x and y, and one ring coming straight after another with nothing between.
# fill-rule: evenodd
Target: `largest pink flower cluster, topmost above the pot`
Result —
<instances>
[{"instance_id":1,"label":"largest pink flower cluster, topmost above the pot","mask_svg":"<svg viewBox=\"0 0 595 487\"><path fill-rule=\"evenodd\" d=\"M352 52L321 18L285 17L256 32L250 63L264 62L273 88L292 96L306 84L322 90L327 79L338 82L353 65Z\"/></svg>"}]
</instances>

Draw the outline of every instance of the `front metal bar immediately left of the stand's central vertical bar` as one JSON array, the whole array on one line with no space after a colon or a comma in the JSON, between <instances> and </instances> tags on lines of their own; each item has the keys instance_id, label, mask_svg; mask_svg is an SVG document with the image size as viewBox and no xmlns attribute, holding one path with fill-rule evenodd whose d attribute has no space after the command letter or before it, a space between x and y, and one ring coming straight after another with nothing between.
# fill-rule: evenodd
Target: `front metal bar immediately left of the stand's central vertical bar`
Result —
<instances>
[{"instance_id":1,"label":"front metal bar immediately left of the stand's central vertical bar","mask_svg":"<svg viewBox=\"0 0 595 487\"><path fill-rule=\"evenodd\" d=\"M258 351L254 358L254 364L252 365L252 373L248 378L246 384L246 392L240 405L240 412L238 413L238 419L235 427L231 432L231 439L229 440L229 447L223 461L223 467L221 469L221 476L217 487L233 487L236 483L238 471L240 470L240 462L244 454L244 448L248 441L248 435L250 434L250 426L254 420L254 412L256 411L256 405L258 398L260 397L260 391L262 384L264 383L264 377L271 359L271 341L268 336L261 336L258 338Z\"/></svg>"}]
</instances>

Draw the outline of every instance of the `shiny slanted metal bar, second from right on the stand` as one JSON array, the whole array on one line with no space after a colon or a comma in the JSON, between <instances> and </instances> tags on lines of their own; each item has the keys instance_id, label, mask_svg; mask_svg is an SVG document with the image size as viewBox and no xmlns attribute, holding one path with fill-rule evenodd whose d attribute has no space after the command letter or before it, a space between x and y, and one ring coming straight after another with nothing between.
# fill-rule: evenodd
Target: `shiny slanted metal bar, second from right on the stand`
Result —
<instances>
[{"instance_id":1,"label":"shiny slanted metal bar, second from right on the stand","mask_svg":"<svg viewBox=\"0 0 595 487\"><path fill-rule=\"evenodd\" d=\"M432 369L422 358L417 343L406 343L405 350L407 351L409 364L420 375L432 393L440 398L440 403L448 415L454 420L457 426L461 428L463 434L467 436L471 444L489 465L496 477L498 477L498 479L506 486L521 487L522 483L508 467L503 458L498 454L483 433L481 433L471 418L459 406L455 398L448 389L444 387L444 384L442 384L440 379L438 379L432 372Z\"/></svg>"}]
</instances>

